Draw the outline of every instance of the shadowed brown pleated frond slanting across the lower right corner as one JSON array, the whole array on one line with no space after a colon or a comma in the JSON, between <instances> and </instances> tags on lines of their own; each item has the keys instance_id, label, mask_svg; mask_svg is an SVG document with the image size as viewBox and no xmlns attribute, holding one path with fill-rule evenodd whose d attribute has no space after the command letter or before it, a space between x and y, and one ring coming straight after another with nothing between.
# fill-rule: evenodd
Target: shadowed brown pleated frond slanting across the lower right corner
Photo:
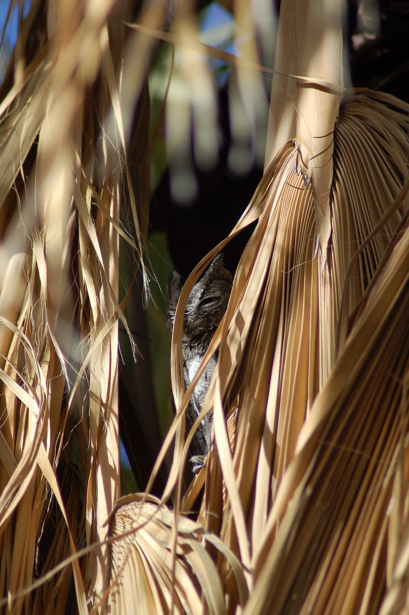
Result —
<instances>
[{"instance_id":1,"label":"shadowed brown pleated frond slanting across the lower right corner","mask_svg":"<svg viewBox=\"0 0 409 615\"><path fill-rule=\"evenodd\" d=\"M388 511L397 506L399 515L402 506L392 485L398 468L402 480L407 446L407 228L405 221L301 430L256 557L249 613L269 604L314 613L379 607L399 532ZM253 609L257 600L263 607Z\"/></svg>"}]
</instances>

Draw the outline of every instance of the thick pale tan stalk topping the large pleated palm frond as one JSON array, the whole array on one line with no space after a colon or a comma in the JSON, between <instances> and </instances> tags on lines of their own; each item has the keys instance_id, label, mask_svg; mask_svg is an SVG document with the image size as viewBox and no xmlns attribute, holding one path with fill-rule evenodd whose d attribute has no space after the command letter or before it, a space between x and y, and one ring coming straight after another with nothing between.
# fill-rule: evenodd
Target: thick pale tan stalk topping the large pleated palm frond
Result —
<instances>
[{"instance_id":1,"label":"thick pale tan stalk topping the large pleated palm frond","mask_svg":"<svg viewBox=\"0 0 409 615\"><path fill-rule=\"evenodd\" d=\"M332 184L333 128L343 86L341 12L343 0L282 2L277 37L279 73L272 85L266 164L283 143L295 139L297 172L306 184L312 178L314 210L323 264L331 234L330 188ZM288 45L292 49L288 53ZM318 87L293 79L292 74L327 79L330 87Z\"/></svg>"}]
</instances>

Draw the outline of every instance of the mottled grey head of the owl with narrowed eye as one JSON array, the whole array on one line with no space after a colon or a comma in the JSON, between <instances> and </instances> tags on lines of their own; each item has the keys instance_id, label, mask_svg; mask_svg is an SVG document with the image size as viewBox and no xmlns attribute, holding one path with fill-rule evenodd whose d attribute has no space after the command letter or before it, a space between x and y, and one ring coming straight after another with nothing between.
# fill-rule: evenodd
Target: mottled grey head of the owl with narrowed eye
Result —
<instances>
[{"instance_id":1,"label":"mottled grey head of the owl with narrowed eye","mask_svg":"<svg viewBox=\"0 0 409 615\"><path fill-rule=\"evenodd\" d=\"M226 311L231 287L232 275L224 267L223 254L219 254L191 290L185 310L186 335L199 335L218 326Z\"/></svg>"}]
</instances>

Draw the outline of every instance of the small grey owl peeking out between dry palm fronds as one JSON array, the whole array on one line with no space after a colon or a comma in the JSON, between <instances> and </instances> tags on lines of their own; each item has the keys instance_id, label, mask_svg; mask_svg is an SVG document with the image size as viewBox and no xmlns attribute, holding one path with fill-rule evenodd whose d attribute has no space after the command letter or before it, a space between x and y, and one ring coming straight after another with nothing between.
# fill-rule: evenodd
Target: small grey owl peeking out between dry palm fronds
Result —
<instances>
[{"instance_id":1,"label":"small grey owl peeking out between dry palm fronds","mask_svg":"<svg viewBox=\"0 0 409 615\"><path fill-rule=\"evenodd\" d=\"M169 295L168 326L172 329L175 311L183 287L181 276L172 271L167 283ZM183 320L182 354L186 387L189 386L201 365L208 345L226 311L232 287L232 275L224 267L223 254L212 261L201 279L196 282L189 295ZM186 433L190 431L201 411L207 389L218 361L218 350L211 357L201 378L194 387L186 408ZM201 421L191 444L192 471L196 473L203 466L203 460L210 448L213 411Z\"/></svg>"}]
</instances>

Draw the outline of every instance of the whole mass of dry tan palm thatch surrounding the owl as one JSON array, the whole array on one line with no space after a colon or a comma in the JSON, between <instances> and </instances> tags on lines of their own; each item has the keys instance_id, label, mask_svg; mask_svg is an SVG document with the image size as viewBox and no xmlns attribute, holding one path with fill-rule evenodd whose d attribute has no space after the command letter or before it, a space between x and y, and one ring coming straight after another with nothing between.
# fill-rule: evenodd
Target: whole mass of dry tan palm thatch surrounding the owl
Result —
<instances>
[{"instance_id":1,"label":"whole mass of dry tan palm thatch surrounding the owl","mask_svg":"<svg viewBox=\"0 0 409 615\"><path fill-rule=\"evenodd\" d=\"M0 106L4 609L400 613L407 600L408 106L343 90L340 6L282 2L272 162L231 236L189 276L175 318L178 414L165 443L175 437L165 493L114 507L120 317L126 326L119 237L140 260L148 34L165 38L167 12L146 4L133 30L124 26L135 19L132 3L55 2L47 14L40 4L27 23L47 23L44 40L22 30L14 85L7 77ZM245 20L241 9L237 18ZM191 16L181 12L172 36L185 46L181 66L194 91L194 69L203 66L192 59ZM295 55L280 42L293 35ZM239 65L242 91L258 79L249 72L253 49L247 60ZM135 100L137 199L128 140ZM135 240L124 229L125 194ZM183 306L215 253L253 222L212 343L213 350L220 343L220 360L203 413L214 407L215 446L183 494L191 392L181 369ZM192 522L180 511L203 484ZM173 511L164 505L171 494Z\"/></svg>"}]
</instances>

